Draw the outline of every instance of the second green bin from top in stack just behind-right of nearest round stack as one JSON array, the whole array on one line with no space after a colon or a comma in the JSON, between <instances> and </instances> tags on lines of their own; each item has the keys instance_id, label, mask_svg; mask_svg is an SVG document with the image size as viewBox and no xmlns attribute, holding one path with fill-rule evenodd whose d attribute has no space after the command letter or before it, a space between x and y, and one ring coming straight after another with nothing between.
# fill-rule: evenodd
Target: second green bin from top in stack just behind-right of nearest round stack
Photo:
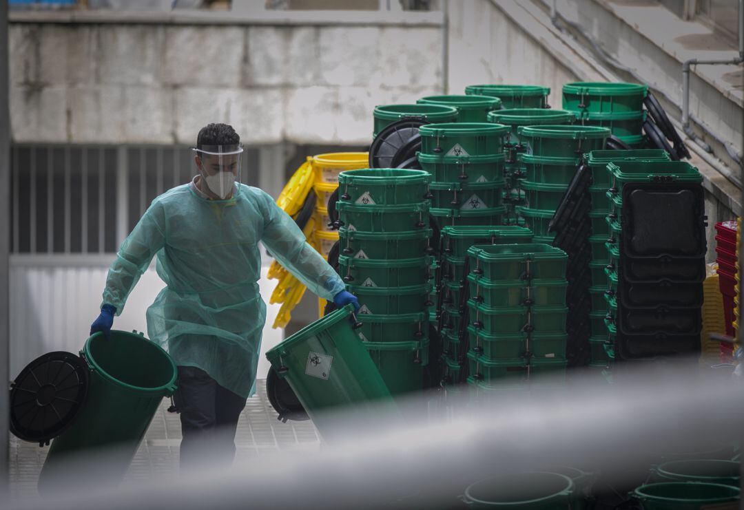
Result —
<instances>
[{"instance_id":1,"label":"second green bin from top in stack just behind-right of nearest round stack","mask_svg":"<svg viewBox=\"0 0 744 510\"><path fill-rule=\"evenodd\" d=\"M506 155L503 152L485 156L443 156L418 153L423 170L434 182L485 183L504 186Z\"/></svg>"}]
</instances>

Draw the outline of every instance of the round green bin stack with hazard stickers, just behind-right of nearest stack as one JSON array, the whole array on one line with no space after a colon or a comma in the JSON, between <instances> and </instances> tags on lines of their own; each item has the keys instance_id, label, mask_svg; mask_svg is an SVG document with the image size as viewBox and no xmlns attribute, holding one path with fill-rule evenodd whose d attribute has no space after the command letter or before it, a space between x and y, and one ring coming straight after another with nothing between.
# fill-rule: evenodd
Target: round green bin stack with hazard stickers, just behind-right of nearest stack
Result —
<instances>
[{"instance_id":1,"label":"round green bin stack with hazard stickers, just behind-right of nearest stack","mask_svg":"<svg viewBox=\"0 0 744 510\"><path fill-rule=\"evenodd\" d=\"M432 175L431 213L440 227L501 225L508 132L484 122L421 126L418 159Z\"/></svg>"}]
</instances>

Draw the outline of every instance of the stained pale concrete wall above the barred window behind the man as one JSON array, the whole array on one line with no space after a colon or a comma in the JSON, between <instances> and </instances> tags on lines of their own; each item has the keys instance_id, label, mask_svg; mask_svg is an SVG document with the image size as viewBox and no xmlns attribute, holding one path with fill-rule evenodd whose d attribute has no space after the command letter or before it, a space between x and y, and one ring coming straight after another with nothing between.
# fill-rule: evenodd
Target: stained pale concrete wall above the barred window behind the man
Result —
<instances>
[{"instance_id":1,"label":"stained pale concrete wall above the barred window behind the man","mask_svg":"<svg viewBox=\"0 0 744 510\"><path fill-rule=\"evenodd\" d=\"M442 88L432 25L15 22L13 141L194 143L208 122L245 143L369 143L376 104Z\"/></svg>"}]
</instances>

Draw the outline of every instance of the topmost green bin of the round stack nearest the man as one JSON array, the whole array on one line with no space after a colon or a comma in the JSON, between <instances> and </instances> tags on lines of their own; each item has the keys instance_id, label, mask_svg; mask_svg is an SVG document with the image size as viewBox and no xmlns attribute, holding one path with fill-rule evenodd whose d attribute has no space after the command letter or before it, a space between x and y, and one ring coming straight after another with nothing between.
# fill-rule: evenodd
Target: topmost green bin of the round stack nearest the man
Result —
<instances>
[{"instance_id":1,"label":"topmost green bin of the round stack nearest the man","mask_svg":"<svg viewBox=\"0 0 744 510\"><path fill-rule=\"evenodd\" d=\"M339 173L339 202L359 206L418 204L432 176L423 170L375 168Z\"/></svg>"}]
</instances>

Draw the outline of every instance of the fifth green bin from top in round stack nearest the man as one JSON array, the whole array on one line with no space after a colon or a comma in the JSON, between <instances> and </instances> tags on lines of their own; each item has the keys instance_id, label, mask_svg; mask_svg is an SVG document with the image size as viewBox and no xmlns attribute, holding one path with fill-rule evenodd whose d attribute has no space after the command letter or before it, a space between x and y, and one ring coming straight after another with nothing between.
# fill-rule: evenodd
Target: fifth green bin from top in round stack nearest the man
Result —
<instances>
[{"instance_id":1,"label":"fifth green bin from top in round stack nearest the man","mask_svg":"<svg viewBox=\"0 0 744 510\"><path fill-rule=\"evenodd\" d=\"M408 287L365 287L347 285L347 291L359 299L359 314L403 315L424 312L429 306L432 285Z\"/></svg>"}]
</instances>

